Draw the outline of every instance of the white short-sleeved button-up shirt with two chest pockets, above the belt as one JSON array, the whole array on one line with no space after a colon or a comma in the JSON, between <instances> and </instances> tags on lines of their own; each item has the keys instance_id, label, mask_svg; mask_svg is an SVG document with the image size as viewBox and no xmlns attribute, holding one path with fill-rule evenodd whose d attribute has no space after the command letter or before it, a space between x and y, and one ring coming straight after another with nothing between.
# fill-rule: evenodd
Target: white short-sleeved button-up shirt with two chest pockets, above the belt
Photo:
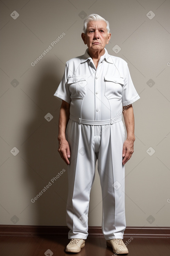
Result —
<instances>
[{"instance_id":1,"label":"white short-sleeved button-up shirt with two chest pockets, above the belt","mask_svg":"<svg viewBox=\"0 0 170 256\"><path fill-rule=\"evenodd\" d=\"M125 60L105 54L97 69L88 49L66 62L54 96L70 104L70 115L91 121L122 119L122 106L140 99Z\"/></svg>"}]
</instances>

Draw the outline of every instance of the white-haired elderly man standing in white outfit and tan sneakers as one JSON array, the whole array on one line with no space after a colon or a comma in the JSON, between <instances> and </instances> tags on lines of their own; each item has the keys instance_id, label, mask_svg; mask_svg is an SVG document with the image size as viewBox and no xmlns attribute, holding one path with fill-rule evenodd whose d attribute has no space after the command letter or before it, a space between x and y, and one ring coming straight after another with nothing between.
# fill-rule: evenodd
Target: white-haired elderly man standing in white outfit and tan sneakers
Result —
<instances>
[{"instance_id":1,"label":"white-haired elderly man standing in white outfit and tan sneakers","mask_svg":"<svg viewBox=\"0 0 170 256\"><path fill-rule=\"evenodd\" d=\"M128 254L123 243L124 164L133 153L132 103L140 97L127 62L107 53L109 23L97 14L84 20L84 55L66 62L55 96L62 100L59 115L59 153L68 165L67 226L71 239L66 252L78 253L88 236L88 210L95 164L102 187L102 232L107 246ZM122 122L122 113L127 129Z\"/></svg>"}]
</instances>

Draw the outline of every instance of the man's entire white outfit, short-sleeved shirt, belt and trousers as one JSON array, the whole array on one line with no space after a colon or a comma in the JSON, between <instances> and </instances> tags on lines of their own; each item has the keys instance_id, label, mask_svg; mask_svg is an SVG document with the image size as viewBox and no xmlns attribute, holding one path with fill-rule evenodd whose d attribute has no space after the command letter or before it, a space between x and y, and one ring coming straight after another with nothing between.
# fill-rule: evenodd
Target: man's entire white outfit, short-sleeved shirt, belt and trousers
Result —
<instances>
[{"instance_id":1,"label":"man's entire white outfit, short-sleeved shirt, belt and trousers","mask_svg":"<svg viewBox=\"0 0 170 256\"><path fill-rule=\"evenodd\" d=\"M127 62L109 55L105 48L96 69L87 49L84 55L66 62L55 96L70 104L70 120L66 128L71 149L68 238L86 239L88 236L89 196L98 159L103 198L102 231L106 240L122 239L126 228L122 106L140 98Z\"/></svg>"}]
</instances>

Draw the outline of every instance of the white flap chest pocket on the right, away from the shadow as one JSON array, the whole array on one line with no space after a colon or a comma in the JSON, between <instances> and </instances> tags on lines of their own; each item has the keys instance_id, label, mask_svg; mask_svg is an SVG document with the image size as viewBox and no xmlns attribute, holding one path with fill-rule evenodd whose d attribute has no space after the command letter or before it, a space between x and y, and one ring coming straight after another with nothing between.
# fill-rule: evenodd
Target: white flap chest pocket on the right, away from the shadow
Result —
<instances>
[{"instance_id":1,"label":"white flap chest pocket on the right, away from the shadow","mask_svg":"<svg viewBox=\"0 0 170 256\"><path fill-rule=\"evenodd\" d=\"M105 76L105 96L107 99L122 98L124 81L122 77Z\"/></svg>"}]
</instances>

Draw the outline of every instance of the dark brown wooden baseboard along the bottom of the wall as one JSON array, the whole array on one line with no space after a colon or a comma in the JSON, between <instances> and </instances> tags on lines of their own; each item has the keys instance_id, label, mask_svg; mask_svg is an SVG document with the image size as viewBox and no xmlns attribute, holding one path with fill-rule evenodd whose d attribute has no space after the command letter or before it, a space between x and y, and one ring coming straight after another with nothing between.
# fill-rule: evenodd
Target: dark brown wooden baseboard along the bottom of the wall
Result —
<instances>
[{"instance_id":1,"label":"dark brown wooden baseboard along the bottom of the wall","mask_svg":"<svg viewBox=\"0 0 170 256\"><path fill-rule=\"evenodd\" d=\"M0 235L17 236L67 236L66 226L0 225ZM90 237L104 237L101 227L89 227ZM170 227L127 227L126 237L170 238Z\"/></svg>"}]
</instances>

